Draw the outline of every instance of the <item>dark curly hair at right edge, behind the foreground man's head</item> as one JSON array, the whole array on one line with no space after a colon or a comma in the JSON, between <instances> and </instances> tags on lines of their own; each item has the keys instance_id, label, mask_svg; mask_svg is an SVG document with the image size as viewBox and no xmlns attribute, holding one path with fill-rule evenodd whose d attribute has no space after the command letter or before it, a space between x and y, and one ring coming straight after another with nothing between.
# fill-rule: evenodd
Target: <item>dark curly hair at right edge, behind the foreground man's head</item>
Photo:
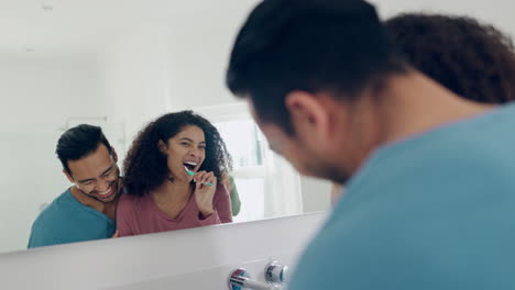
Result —
<instances>
[{"instance_id":1,"label":"dark curly hair at right edge, behind the foreground man's head","mask_svg":"<svg viewBox=\"0 0 515 290\"><path fill-rule=\"evenodd\" d=\"M406 13L385 21L392 42L416 69L467 99L515 99L512 40L467 16Z\"/></svg>"}]
</instances>

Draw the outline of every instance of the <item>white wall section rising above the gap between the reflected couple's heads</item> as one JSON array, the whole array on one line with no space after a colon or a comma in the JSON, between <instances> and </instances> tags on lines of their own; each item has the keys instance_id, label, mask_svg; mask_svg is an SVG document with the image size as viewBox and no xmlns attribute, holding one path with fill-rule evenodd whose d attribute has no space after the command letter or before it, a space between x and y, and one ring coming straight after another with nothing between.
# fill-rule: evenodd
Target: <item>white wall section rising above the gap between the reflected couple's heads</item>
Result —
<instances>
[{"instance_id":1,"label":"white wall section rising above the gap between the reflected couple's heads","mask_svg":"<svg viewBox=\"0 0 515 290\"><path fill-rule=\"evenodd\" d=\"M135 133L172 110L167 27L145 23L128 27L98 54L110 122L123 124L122 158Z\"/></svg>"}]
</instances>

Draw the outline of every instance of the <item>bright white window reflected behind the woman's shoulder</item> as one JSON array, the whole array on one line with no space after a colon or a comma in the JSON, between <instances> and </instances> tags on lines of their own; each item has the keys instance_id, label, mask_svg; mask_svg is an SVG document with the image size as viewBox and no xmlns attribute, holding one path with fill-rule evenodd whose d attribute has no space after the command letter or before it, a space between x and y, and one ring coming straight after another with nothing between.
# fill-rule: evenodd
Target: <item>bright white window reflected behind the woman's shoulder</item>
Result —
<instances>
[{"instance_id":1,"label":"bright white window reflected behind the woman's shoulder","mask_svg":"<svg viewBox=\"0 0 515 290\"><path fill-rule=\"evenodd\" d=\"M297 214L303 210L298 174L269 149L266 138L244 104L194 110L220 132L233 159L231 176L241 210L234 222Z\"/></svg>"}]
</instances>

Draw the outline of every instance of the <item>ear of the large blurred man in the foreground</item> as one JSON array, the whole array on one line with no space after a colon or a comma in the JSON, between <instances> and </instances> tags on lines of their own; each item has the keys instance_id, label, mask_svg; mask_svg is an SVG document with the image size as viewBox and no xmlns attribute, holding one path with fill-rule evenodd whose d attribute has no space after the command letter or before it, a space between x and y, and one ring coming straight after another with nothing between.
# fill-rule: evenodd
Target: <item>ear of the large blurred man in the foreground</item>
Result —
<instances>
[{"instance_id":1,"label":"ear of the large blurred man in the foreground","mask_svg":"<svg viewBox=\"0 0 515 290\"><path fill-rule=\"evenodd\" d=\"M330 115L322 98L306 91L292 91L286 96L285 105L296 132L309 133L317 140L329 134Z\"/></svg>"}]
</instances>

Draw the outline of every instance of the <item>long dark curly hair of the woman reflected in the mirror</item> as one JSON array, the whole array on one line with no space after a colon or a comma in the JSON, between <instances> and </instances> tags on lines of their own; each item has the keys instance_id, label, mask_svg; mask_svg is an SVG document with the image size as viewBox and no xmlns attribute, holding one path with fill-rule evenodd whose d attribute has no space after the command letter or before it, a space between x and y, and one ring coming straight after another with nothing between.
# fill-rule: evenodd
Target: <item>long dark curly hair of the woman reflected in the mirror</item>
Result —
<instances>
[{"instance_id":1,"label":"long dark curly hair of the woman reflected in the mirror","mask_svg":"<svg viewBox=\"0 0 515 290\"><path fill-rule=\"evenodd\" d=\"M232 169L232 158L218 130L193 111L167 113L146 125L132 143L123 161L127 193L142 197L168 177L166 156L158 149L160 140L167 143L185 126L195 125L206 137L206 159L199 170L212 171L220 179Z\"/></svg>"}]
</instances>

